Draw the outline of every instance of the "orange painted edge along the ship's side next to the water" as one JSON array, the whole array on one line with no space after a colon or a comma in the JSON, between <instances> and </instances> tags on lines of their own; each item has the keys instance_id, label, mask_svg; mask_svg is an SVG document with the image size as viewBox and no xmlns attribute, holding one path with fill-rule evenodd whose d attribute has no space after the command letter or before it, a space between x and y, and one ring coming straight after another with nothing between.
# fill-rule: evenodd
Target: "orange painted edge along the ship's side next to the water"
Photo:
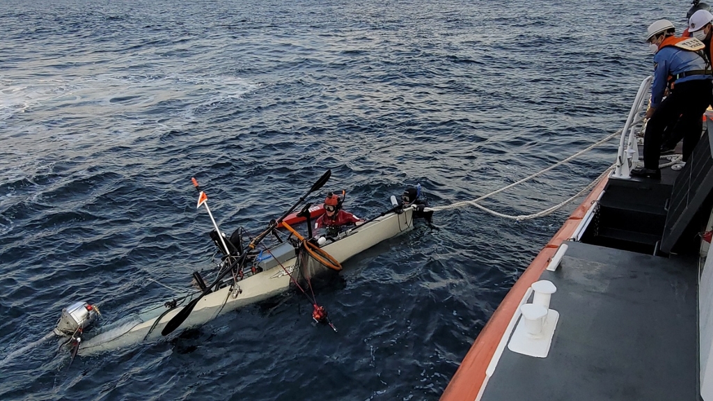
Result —
<instances>
[{"instance_id":1,"label":"orange painted edge along the ship's side next to the water","mask_svg":"<svg viewBox=\"0 0 713 401\"><path fill-rule=\"evenodd\" d=\"M513 318L515 312L520 307L520 300L525 296L525 292L530 288L532 283L540 279L550 260L555 255L557 248L563 241L568 240L577 229L580 223L592 207L593 202L597 200L600 193L604 190L604 186L608 181L605 177L597 183L592 192L583 200L583 202L575 209L560 230L550 239L550 242L540 250L540 253L530 263L527 269L520 275L513 288L508 291L508 294L503 299L503 302L498 306L495 313L486 323L481 333L476 338L475 342L468 350L466 357L463 358L461 366L456 370L453 379L448 383L448 387L441 395L441 401L473 401L478 397L478 393L486 380L486 369L490 365L493 355L495 355L498 344L501 338L505 335L508 325Z\"/></svg>"}]
</instances>

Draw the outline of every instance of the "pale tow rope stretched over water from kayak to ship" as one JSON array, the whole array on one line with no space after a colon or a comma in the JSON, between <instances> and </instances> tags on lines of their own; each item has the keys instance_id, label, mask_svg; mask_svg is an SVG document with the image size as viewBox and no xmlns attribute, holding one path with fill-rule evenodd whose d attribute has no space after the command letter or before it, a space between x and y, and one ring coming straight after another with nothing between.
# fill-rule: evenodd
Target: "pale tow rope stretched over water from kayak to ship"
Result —
<instances>
[{"instance_id":1,"label":"pale tow rope stretched over water from kayak to ship","mask_svg":"<svg viewBox=\"0 0 713 401\"><path fill-rule=\"evenodd\" d=\"M610 134L606 138L593 143L592 145L588 146L587 148L583 149L582 151L578 151L577 153L573 154L572 156L565 158L564 160L559 161L558 163L555 163L552 166L549 166L548 168L538 171L537 173L527 176L519 181L515 181L514 183L511 183L508 186L504 186L503 188L500 188L496 191L493 191L491 193L483 195L480 198L476 198L473 200L463 200L461 202L452 203L451 205L436 206L435 208L425 208L424 210L426 210L426 211L441 211L441 210L448 210L448 209L453 209L453 208L460 208L462 206L475 206L476 208L481 209L481 210L485 211L486 213L490 213L492 215L496 215L501 218L507 218L507 219L516 220L516 221L531 220L533 218L539 218L539 217L543 217L545 215L549 215L549 214L555 212L555 210L558 210L559 208L562 208L564 205L567 205L568 203L572 202L579 196L582 196L583 193L591 191L591 189L594 188L597 185L597 183L599 183L599 181L602 180L602 178L607 176L607 174L609 174L615 168L615 166L612 165L609 168L607 168L603 173L600 174L600 176L595 178L594 181L592 181L588 186L583 188L582 191L579 191L577 194L575 194L575 196L572 196L571 198L568 198L567 200L563 201L562 203L559 203L558 205L554 205L553 207L542 210L538 213L533 213L533 214L529 214L529 215L506 215L504 213L499 213L499 212L496 212L495 210L491 210L491 209L486 208L485 206L479 205L478 202L481 200L490 198L491 196L494 196L494 195L501 193L503 191L506 191L510 188L513 188L514 186L518 186L521 183L524 183L525 181L530 181L531 179L541 176L544 173L547 173L548 171L552 170L553 168L563 165L564 163L568 163L569 161L574 160L575 158L582 155L583 153L591 151L593 148L596 148L597 146L602 145L602 143L606 143L607 141L610 141L615 136L619 136L621 134L621 132L622 132L622 130L616 131L615 133Z\"/></svg>"}]
</instances>

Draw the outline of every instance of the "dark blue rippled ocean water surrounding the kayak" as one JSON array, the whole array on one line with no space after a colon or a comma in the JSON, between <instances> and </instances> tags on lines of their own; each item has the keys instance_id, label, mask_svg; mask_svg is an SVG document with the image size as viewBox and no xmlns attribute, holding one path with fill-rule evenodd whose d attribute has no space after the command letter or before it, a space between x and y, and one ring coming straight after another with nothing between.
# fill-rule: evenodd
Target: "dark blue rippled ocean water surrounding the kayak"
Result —
<instances>
[{"instance_id":1,"label":"dark blue rippled ocean water surrounding the kayak","mask_svg":"<svg viewBox=\"0 0 713 401\"><path fill-rule=\"evenodd\" d=\"M293 294L71 366L26 346L75 300L109 323L210 268L191 176L225 231L257 232L327 168L368 217L405 186L449 205L570 156L623 125L646 26L688 6L0 2L0 399L437 400L575 205L446 210L352 258L317 293L337 334ZM548 208L615 146L484 204Z\"/></svg>"}]
</instances>

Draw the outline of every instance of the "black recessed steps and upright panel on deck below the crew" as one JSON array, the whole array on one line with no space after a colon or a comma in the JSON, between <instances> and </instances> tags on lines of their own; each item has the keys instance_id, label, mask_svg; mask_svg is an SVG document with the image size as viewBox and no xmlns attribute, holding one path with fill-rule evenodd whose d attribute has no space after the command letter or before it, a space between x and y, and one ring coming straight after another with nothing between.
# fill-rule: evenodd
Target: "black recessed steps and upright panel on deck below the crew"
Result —
<instances>
[{"instance_id":1,"label":"black recessed steps and upright panel on deck below the crew","mask_svg":"<svg viewBox=\"0 0 713 401\"><path fill-rule=\"evenodd\" d=\"M713 205L711 121L707 128L682 170L663 168L660 181L610 178L582 241L649 255L689 253L679 244L692 243L682 239L703 230L707 215L701 213Z\"/></svg>"}]
</instances>

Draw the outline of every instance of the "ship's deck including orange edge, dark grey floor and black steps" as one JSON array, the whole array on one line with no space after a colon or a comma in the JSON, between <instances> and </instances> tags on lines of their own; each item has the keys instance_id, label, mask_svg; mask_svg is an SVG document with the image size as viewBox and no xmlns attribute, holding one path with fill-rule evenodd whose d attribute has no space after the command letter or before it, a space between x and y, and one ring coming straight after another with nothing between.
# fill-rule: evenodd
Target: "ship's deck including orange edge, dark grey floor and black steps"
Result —
<instances>
[{"instance_id":1,"label":"ship's deck including orange edge, dark grey floor and black steps","mask_svg":"<svg viewBox=\"0 0 713 401\"><path fill-rule=\"evenodd\" d=\"M660 179L612 175L593 189L518 278L441 401L713 395L713 345L699 342L699 293L703 303L713 298L699 287L699 234L713 220L713 121L706 125L682 168L663 168ZM555 249L564 254L548 270ZM556 287L548 310L534 302L538 280ZM538 321L542 330L528 326Z\"/></svg>"}]
</instances>

